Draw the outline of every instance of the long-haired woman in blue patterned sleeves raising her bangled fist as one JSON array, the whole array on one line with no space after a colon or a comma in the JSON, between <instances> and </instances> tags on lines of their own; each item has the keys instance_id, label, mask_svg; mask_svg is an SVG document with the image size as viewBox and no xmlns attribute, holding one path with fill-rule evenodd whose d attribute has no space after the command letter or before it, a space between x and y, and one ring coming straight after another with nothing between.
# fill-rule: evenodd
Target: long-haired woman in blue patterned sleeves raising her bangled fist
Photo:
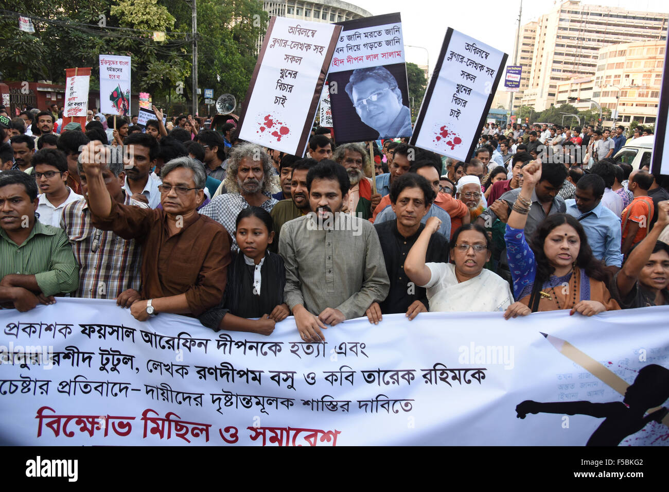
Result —
<instances>
[{"instance_id":1,"label":"long-haired woman in blue patterned sleeves raising her bangled fist","mask_svg":"<svg viewBox=\"0 0 669 492\"><path fill-rule=\"evenodd\" d=\"M522 188L506 222L506 255L518 302L506 319L535 311L571 309L570 315L596 315L620 309L606 287L603 266L587 244L583 226L567 214L553 214L539 224L530 244L524 227L532 193L541 179L541 161L522 169Z\"/></svg>"}]
</instances>

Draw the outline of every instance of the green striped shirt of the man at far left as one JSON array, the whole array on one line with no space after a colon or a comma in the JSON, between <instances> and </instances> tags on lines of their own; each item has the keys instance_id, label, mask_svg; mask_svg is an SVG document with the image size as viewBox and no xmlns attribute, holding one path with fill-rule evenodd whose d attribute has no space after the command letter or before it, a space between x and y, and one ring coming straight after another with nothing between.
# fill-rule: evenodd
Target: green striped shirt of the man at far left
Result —
<instances>
[{"instance_id":1,"label":"green striped shirt of the man at far left","mask_svg":"<svg viewBox=\"0 0 669 492\"><path fill-rule=\"evenodd\" d=\"M77 262L64 230L45 226L37 219L20 246L0 229L0 258L0 278L35 275L45 296L70 293L79 286Z\"/></svg>"}]
</instances>

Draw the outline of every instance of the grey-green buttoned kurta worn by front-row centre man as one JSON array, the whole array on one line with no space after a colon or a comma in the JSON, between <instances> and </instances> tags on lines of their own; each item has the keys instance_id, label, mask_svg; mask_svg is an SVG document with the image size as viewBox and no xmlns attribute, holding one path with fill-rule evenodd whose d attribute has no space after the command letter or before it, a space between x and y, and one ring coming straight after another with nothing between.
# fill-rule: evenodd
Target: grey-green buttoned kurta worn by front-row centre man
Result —
<instances>
[{"instance_id":1,"label":"grey-green buttoned kurta worn by front-row centre man","mask_svg":"<svg viewBox=\"0 0 669 492\"><path fill-rule=\"evenodd\" d=\"M371 222L338 213L334 229L316 228L313 214L286 222L279 254L286 266L284 301L319 315L326 307L346 319L365 315L390 289L381 243Z\"/></svg>"}]
</instances>

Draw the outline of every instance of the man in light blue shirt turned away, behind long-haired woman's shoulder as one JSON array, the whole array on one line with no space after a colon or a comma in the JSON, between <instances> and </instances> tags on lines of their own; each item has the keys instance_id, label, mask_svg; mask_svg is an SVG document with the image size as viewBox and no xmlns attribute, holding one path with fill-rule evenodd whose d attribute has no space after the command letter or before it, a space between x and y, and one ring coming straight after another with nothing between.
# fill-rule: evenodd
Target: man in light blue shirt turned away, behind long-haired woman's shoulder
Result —
<instances>
[{"instance_id":1,"label":"man in light blue shirt turned away, behind long-haired woman's shoulder","mask_svg":"<svg viewBox=\"0 0 669 492\"><path fill-rule=\"evenodd\" d=\"M567 214L581 222L592 254L615 274L622 266L620 218L601 204L604 180L586 174L576 183L576 199L565 200Z\"/></svg>"}]
</instances>

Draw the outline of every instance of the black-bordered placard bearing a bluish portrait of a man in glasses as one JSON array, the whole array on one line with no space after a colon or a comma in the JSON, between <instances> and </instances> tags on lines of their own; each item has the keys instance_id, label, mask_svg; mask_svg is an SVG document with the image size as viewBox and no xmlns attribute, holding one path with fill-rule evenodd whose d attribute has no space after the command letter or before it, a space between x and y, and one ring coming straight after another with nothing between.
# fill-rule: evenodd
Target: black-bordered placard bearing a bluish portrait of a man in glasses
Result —
<instances>
[{"instance_id":1,"label":"black-bordered placard bearing a bluish portrait of a man in glasses","mask_svg":"<svg viewBox=\"0 0 669 492\"><path fill-rule=\"evenodd\" d=\"M337 143L411 137L399 13L338 23L328 72Z\"/></svg>"}]
</instances>

